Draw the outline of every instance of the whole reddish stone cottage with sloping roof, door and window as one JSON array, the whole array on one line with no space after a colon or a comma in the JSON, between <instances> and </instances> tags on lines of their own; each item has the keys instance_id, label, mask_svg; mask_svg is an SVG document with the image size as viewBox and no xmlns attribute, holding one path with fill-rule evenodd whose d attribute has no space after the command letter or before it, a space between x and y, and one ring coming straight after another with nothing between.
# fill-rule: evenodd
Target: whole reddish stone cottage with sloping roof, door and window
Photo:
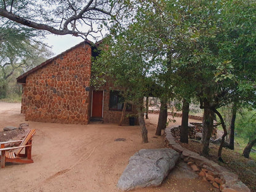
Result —
<instances>
[{"instance_id":1,"label":"whole reddish stone cottage with sloping roof, door and window","mask_svg":"<svg viewBox=\"0 0 256 192\"><path fill-rule=\"evenodd\" d=\"M119 92L107 86L102 90L90 87L95 49L97 43L81 42L17 78L23 88L21 113L26 121L119 122L123 106Z\"/></svg>"}]
</instances>

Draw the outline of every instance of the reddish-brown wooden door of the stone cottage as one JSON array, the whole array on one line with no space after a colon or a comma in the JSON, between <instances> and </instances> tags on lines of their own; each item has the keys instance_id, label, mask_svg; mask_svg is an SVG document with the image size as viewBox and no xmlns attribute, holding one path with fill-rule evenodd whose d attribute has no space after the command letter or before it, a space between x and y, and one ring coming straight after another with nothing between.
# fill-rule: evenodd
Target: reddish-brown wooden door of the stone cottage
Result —
<instances>
[{"instance_id":1,"label":"reddish-brown wooden door of the stone cottage","mask_svg":"<svg viewBox=\"0 0 256 192\"><path fill-rule=\"evenodd\" d=\"M103 90L92 92L92 118L102 118Z\"/></svg>"}]
</instances>

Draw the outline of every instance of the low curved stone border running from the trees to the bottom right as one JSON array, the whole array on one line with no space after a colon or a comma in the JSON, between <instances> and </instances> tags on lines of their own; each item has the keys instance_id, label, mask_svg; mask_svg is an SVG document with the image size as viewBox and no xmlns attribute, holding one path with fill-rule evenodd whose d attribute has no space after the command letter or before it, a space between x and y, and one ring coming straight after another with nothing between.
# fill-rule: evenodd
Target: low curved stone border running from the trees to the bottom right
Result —
<instances>
[{"instance_id":1,"label":"low curved stone border running from the trees to the bottom right","mask_svg":"<svg viewBox=\"0 0 256 192\"><path fill-rule=\"evenodd\" d=\"M166 145L180 153L183 161L188 162L203 180L210 182L222 192L250 192L250 189L238 180L238 175L176 143L170 132L173 127L168 127L164 130Z\"/></svg>"}]
</instances>

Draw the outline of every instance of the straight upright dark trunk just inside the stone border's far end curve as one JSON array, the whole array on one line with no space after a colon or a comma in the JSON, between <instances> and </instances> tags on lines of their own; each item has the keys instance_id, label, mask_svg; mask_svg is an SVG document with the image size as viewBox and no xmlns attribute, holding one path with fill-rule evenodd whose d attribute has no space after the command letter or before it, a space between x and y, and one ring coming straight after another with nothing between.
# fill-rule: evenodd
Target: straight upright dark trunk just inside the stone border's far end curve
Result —
<instances>
[{"instance_id":1,"label":"straight upright dark trunk just inside the stone border's far end curve","mask_svg":"<svg viewBox=\"0 0 256 192\"><path fill-rule=\"evenodd\" d=\"M183 98L182 102L182 127L180 128L180 142L188 143L188 113L190 111L190 103Z\"/></svg>"}]
</instances>

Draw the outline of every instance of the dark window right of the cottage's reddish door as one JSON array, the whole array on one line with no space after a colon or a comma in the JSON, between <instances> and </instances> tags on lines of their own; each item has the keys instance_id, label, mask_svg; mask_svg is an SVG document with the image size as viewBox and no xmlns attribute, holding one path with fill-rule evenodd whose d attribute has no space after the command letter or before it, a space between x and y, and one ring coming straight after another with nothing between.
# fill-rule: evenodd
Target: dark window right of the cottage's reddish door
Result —
<instances>
[{"instance_id":1,"label":"dark window right of the cottage's reddish door","mask_svg":"<svg viewBox=\"0 0 256 192\"><path fill-rule=\"evenodd\" d=\"M110 110L112 111L122 111L124 108L124 97L120 95L118 90L110 90ZM126 111L132 111L132 105L127 103Z\"/></svg>"}]
</instances>

